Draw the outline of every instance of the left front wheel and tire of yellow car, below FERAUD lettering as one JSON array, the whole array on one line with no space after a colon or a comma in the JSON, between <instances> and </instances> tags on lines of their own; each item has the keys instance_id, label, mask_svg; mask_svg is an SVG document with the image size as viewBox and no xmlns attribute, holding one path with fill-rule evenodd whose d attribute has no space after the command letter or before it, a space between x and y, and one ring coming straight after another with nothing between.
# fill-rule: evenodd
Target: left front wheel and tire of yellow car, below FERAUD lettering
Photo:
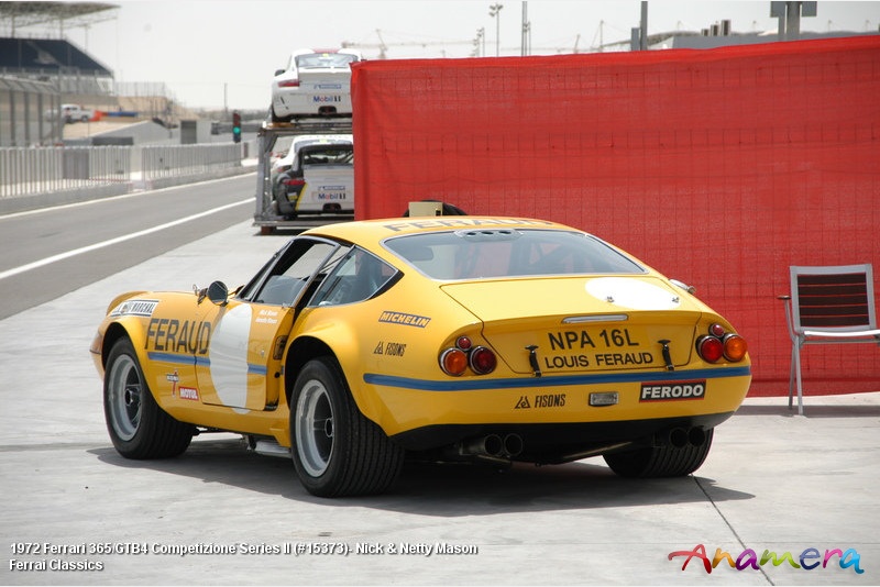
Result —
<instances>
[{"instance_id":1,"label":"left front wheel and tire of yellow car, below FERAUD lettering","mask_svg":"<svg viewBox=\"0 0 880 587\"><path fill-rule=\"evenodd\" d=\"M117 341L107 357L103 413L110 440L125 458L177 456L196 432L156 403L129 339Z\"/></svg>"}]
</instances>

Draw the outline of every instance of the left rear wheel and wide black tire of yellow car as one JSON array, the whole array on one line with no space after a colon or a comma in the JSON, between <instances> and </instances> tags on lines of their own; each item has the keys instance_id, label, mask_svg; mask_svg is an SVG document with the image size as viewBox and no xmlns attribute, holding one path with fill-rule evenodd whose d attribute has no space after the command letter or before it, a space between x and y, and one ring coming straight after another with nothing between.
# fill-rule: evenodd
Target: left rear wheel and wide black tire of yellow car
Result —
<instances>
[{"instance_id":1,"label":"left rear wheel and wide black tire of yellow car","mask_svg":"<svg viewBox=\"0 0 880 587\"><path fill-rule=\"evenodd\" d=\"M382 494L404 463L404 450L360 412L330 357L310 361L296 378L290 446L299 480L318 497Z\"/></svg>"}]
</instances>

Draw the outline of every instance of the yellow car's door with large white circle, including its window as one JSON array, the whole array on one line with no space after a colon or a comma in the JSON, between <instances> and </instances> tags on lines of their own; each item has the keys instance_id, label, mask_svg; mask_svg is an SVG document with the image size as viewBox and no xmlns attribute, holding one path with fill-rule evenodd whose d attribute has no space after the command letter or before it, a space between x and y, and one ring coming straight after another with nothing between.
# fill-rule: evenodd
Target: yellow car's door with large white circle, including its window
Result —
<instances>
[{"instance_id":1,"label":"yellow car's door with large white circle, including its window","mask_svg":"<svg viewBox=\"0 0 880 587\"><path fill-rule=\"evenodd\" d=\"M277 406L297 302L311 295L339 250L330 241L294 239L238 297L211 307L208 354L196 359L202 402L237 411Z\"/></svg>"}]
</instances>

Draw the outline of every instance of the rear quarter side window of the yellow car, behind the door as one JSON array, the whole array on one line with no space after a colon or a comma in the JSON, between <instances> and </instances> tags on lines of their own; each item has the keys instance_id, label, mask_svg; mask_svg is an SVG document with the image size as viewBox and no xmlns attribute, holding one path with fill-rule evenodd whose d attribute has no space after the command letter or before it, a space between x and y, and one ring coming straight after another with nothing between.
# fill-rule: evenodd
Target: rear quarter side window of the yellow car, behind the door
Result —
<instances>
[{"instance_id":1,"label":"rear quarter side window of the yellow car, behind the door","mask_svg":"<svg viewBox=\"0 0 880 587\"><path fill-rule=\"evenodd\" d=\"M309 306L338 306L369 299L396 270L378 257L352 247L323 279Z\"/></svg>"}]
</instances>

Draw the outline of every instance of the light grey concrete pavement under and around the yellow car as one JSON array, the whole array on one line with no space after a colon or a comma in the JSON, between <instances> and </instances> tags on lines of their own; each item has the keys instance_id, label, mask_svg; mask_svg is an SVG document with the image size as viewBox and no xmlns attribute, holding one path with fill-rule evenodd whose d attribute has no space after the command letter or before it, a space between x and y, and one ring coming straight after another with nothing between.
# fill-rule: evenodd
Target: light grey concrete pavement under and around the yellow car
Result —
<instances>
[{"instance_id":1,"label":"light grey concrete pavement under and around the yellow car","mask_svg":"<svg viewBox=\"0 0 880 587\"><path fill-rule=\"evenodd\" d=\"M679 479L622 479L601 458L420 465L388 495L322 500L233 434L121 458L88 353L110 299L234 287L286 239L245 222L0 321L0 584L880 584L880 394L807 397L805 417L747 399ZM701 549L741 568L674 554ZM761 564L765 550L818 564ZM826 550L840 554L823 565Z\"/></svg>"}]
</instances>

